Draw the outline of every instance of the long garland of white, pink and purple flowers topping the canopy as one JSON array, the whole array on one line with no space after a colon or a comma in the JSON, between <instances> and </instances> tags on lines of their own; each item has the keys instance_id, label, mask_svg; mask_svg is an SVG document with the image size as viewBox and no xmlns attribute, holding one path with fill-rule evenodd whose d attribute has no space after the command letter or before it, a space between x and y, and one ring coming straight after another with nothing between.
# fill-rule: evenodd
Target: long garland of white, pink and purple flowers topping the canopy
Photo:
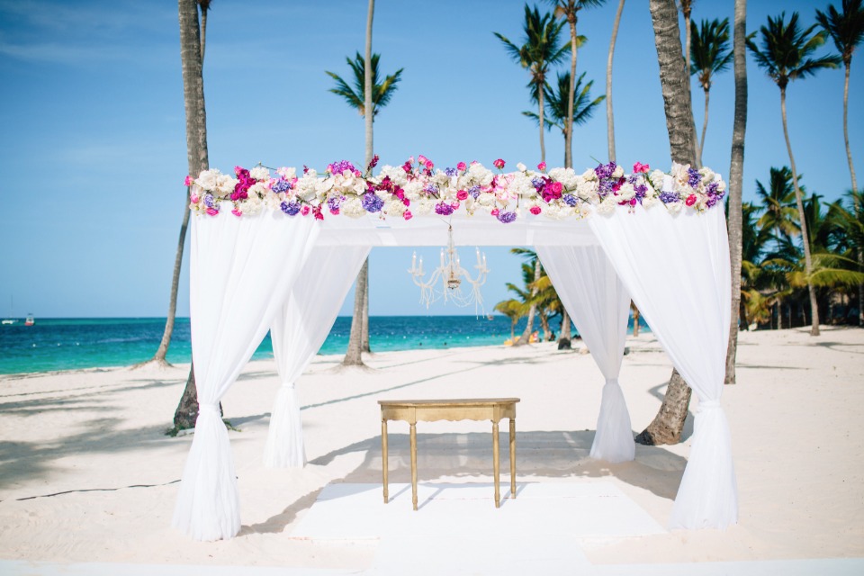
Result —
<instances>
[{"instance_id":1,"label":"long garland of white, pink and purple flowers topping the canopy","mask_svg":"<svg viewBox=\"0 0 864 576\"><path fill-rule=\"evenodd\" d=\"M416 163L410 157L401 166L383 166L372 175L377 163L376 155L365 175L347 160L330 164L323 175L306 166L301 175L295 168L235 166L236 177L204 170L197 178L186 176L185 184L192 187L190 208L211 216L224 206L236 216L270 209L319 220L326 213L410 220L433 212L449 216L455 211L482 211L505 224L526 212L560 220L618 207L633 211L637 206L662 205L673 212L685 207L705 211L725 195L725 183L710 168L680 164L673 164L668 174L639 162L629 175L615 162L582 174L572 168L546 170L545 163L536 170L520 163L516 172L505 173L505 162L499 158L493 162L495 173L479 162L459 162L442 171L421 155Z\"/></svg>"}]
</instances>

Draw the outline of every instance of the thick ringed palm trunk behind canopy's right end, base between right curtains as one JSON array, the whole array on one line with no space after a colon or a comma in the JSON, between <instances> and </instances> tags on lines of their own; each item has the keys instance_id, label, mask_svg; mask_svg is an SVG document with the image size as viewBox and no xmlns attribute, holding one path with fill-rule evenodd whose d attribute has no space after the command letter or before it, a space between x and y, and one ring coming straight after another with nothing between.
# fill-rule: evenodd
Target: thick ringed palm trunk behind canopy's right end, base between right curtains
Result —
<instances>
[{"instance_id":1,"label":"thick ringed palm trunk behind canopy's right end, base between right curtains","mask_svg":"<svg viewBox=\"0 0 864 576\"><path fill-rule=\"evenodd\" d=\"M654 29L654 45L660 63L663 107L666 112L671 157L680 164L692 165L696 161L696 129L693 124L689 76L681 47L678 9L675 7L675 0L650 0L649 8ZM635 441L648 445L679 442L691 393L678 371L672 368L660 411L648 428L635 437Z\"/></svg>"}]
</instances>

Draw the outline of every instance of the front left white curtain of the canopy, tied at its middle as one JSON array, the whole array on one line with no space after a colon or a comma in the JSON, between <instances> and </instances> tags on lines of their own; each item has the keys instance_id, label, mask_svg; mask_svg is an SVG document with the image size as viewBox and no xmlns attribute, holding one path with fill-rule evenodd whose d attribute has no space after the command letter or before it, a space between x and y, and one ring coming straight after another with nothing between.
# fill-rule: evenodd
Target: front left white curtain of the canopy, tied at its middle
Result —
<instances>
[{"instance_id":1,"label":"front left white curtain of the canopy, tied at its middle","mask_svg":"<svg viewBox=\"0 0 864 576\"><path fill-rule=\"evenodd\" d=\"M195 540L240 529L237 478L219 402L266 335L318 234L312 218L265 211L193 216L190 250L192 356L199 412L173 525Z\"/></svg>"}]
</instances>

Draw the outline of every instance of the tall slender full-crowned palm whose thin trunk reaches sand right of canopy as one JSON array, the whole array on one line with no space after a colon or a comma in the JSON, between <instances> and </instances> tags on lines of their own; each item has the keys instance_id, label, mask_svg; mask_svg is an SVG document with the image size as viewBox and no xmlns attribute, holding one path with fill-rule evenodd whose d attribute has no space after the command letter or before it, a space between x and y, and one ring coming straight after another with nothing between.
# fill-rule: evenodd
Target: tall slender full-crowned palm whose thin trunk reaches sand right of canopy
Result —
<instances>
[{"instance_id":1,"label":"tall slender full-crowned palm whose thin trunk reaches sand right of canopy","mask_svg":"<svg viewBox=\"0 0 864 576\"><path fill-rule=\"evenodd\" d=\"M780 113L783 118L783 136L786 139L786 148L789 154L789 165L792 168L792 184L795 186L795 199L798 215L801 221L801 243L804 246L804 259L806 264L806 275L813 274L813 262L810 257L810 241L807 236L807 227L804 216L804 203L801 191L798 189L795 168L795 157L792 156L792 144L789 142L789 130L786 120L786 89L790 81L797 78L815 75L821 68L835 68L840 62L836 56L823 56L810 58L815 49L825 43L825 31L816 32L816 25L801 30L798 27L798 14L792 13L789 23L785 23L786 13L781 13L777 18L768 17L768 26L760 28L762 49L755 42L748 39L747 47L756 58L756 63L763 68L778 85L780 89ZM810 309L813 326L810 329L811 336L819 336L819 305L816 302L816 291L813 284L809 284Z\"/></svg>"}]
</instances>

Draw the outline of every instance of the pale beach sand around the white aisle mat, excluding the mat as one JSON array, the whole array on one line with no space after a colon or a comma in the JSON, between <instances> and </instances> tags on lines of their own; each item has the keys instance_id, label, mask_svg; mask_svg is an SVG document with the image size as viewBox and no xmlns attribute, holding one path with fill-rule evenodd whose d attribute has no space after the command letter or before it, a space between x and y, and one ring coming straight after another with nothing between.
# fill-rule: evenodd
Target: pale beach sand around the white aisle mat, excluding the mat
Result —
<instances>
[{"instance_id":1,"label":"pale beach sand around the white aisle mat, excluding the mat","mask_svg":"<svg viewBox=\"0 0 864 576\"><path fill-rule=\"evenodd\" d=\"M639 431L660 405L671 365L650 335L629 346L620 380ZM170 527L192 437L164 431L188 366L0 376L0 558L367 568L374 545L287 536L329 482L380 482L382 398L518 396L520 481L602 477L662 526L669 519L689 440L637 446L633 463L590 460L603 383L590 356L543 344L375 354L368 372L334 370L338 360L317 357L298 383L310 460L302 470L261 464L279 385L272 362L248 365L222 401L239 428L230 438L243 527L216 543ZM738 526L585 545L590 562L864 556L864 330L745 332L738 365L738 384L723 397ZM420 480L489 482L487 424L420 428ZM391 426L392 455L407 446L403 428ZM689 420L688 437L691 430ZM392 459L391 482L409 481L407 465ZM49 496L58 492L68 493Z\"/></svg>"}]
</instances>

